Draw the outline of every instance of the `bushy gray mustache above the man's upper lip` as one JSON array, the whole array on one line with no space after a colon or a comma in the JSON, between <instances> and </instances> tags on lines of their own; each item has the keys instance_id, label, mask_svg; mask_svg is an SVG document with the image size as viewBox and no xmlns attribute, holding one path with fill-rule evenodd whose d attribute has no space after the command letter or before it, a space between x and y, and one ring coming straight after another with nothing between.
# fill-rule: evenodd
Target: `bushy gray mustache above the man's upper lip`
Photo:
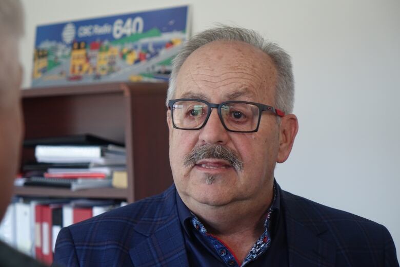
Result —
<instances>
[{"instance_id":1,"label":"bushy gray mustache above the man's upper lip","mask_svg":"<svg viewBox=\"0 0 400 267\"><path fill-rule=\"evenodd\" d=\"M237 171L243 169L243 161L235 151L223 145L210 144L193 147L192 151L185 157L184 165L192 167L196 162L210 158L226 160Z\"/></svg>"}]
</instances>

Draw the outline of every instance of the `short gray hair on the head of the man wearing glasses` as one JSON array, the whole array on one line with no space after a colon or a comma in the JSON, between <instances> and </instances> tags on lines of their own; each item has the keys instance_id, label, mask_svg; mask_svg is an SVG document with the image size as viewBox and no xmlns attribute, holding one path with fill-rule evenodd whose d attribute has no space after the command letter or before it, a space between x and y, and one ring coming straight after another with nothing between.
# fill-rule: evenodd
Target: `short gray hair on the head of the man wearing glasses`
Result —
<instances>
[{"instance_id":1,"label":"short gray hair on the head of the man wearing glasses","mask_svg":"<svg viewBox=\"0 0 400 267\"><path fill-rule=\"evenodd\" d=\"M169 88L166 104L174 97L176 78L182 65L191 53L197 48L214 41L239 41L248 43L261 49L270 56L277 70L277 84L275 88L275 107L286 114L293 111L294 104L294 79L290 56L277 44L266 41L254 30L244 28L219 26L197 33L189 39L182 50L173 60L173 68L169 79Z\"/></svg>"}]
</instances>

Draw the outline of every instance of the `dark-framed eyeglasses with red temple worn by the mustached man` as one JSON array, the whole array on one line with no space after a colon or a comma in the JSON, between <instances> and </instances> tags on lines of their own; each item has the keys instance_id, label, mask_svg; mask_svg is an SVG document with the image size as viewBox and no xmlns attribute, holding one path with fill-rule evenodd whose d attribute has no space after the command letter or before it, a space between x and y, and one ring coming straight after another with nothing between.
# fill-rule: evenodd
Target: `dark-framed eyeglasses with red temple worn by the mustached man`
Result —
<instances>
[{"instance_id":1,"label":"dark-framed eyeglasses with red temple worn by the mustached man","mask_svg":"<svg viewBox=\"0 0 400 267\"><path fill-rule=\"evenodd\" d=\"M263 111L284 117L282 110L264 104L247 101L225 101L221 104L208 103L200 99L174 99L168 101L174 128L198 130L206 125L211 108L218 109L218 116L227 131L255 132Z\"/></svg>"}]
</instances>

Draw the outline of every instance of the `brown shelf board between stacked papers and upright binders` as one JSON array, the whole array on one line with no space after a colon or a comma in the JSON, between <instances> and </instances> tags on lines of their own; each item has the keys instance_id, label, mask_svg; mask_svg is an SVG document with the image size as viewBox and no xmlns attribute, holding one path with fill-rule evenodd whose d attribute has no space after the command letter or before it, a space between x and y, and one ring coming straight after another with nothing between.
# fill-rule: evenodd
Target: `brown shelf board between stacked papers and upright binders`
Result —
<instances>
[{"instance_id":1,"label":"brown shelf board between stacked papers and upright binders","mask_svg":"<svg viewBox=\"0 0 400 267\"><path fill-rule=\"evenodd\" d=\"M53 187L15 186L14 194L23 197L63 197L63 198L97 198L97 199L127 199L127 189L92 188L78 191Z\"/></svg>"}]
</instances>

